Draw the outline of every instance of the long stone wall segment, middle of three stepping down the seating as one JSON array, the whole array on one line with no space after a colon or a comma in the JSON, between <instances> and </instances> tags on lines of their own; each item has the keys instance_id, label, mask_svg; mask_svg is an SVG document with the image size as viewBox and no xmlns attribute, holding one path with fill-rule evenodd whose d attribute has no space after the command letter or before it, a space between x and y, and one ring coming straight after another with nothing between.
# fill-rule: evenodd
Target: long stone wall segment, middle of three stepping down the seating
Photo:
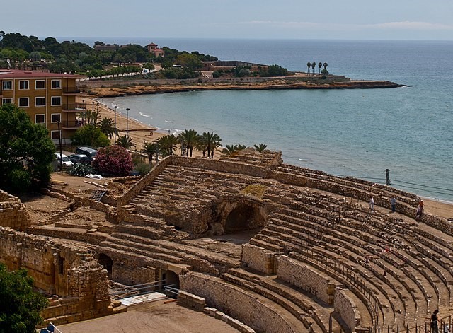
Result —
<instances>
[{"instance_id":1,"label":"long stone wall segment, middle of three stepping down the seating","mask_svg":"<svg viewBox=\"0 0 453 333\"><path fill-rule=\"evenodd\" d=\"M277 276L333 305L336 284L306 264L285 255L277 257Z\"/></svg>"}]
</instances>

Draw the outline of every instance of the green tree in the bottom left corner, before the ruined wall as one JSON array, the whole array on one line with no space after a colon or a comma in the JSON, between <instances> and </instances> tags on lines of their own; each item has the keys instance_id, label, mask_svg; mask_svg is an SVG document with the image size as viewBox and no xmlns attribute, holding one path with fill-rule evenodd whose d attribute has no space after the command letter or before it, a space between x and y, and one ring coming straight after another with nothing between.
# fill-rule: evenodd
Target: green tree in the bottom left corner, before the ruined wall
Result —
<instances>
[{"instance_id":1,"label":"green tree in the bottom left corner, before the ruined wall","mask_svg":"<svg viewBox=\"0 0 453 333\"><path fill-rule=\"evenodd\" d=\"M33 279L25 269L10 272L0 264L0 332L34 333L47 304L33 291Z\"/></svg>"}]
</instances>

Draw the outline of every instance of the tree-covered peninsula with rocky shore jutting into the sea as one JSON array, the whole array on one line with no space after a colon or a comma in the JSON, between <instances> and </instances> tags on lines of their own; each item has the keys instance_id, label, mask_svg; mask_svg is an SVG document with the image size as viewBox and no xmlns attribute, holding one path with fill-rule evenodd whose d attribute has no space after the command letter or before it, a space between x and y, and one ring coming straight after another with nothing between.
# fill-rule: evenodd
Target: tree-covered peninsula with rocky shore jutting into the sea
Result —
<instances>
[{"instance_id":1,"label":"tree-covered peninsula with rocky shore jutting into the sea","mask_svg":"<svg viewBox=\"0 0 453 333\"><path fill-rule=\"evenodd\" d=\"M97 41L58 42L55 37L0 31L0 68L81 74L89 93L139 95L188 90L395 88L390 81L351 80L332 75L326 62L307 62L307 71L277 64L221 61L210 54L185 52L150 43L110 45Z\"/></svg>"}]
</instances>

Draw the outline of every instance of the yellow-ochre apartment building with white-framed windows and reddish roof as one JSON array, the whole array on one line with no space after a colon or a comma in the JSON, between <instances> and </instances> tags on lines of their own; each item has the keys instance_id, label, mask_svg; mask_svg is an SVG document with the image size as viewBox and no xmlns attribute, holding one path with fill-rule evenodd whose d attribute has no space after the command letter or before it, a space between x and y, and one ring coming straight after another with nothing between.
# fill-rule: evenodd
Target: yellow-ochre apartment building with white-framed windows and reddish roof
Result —
<instances>
[{"instance_id":1,"label":"yellow-ochre apartment building with white-framed windows and reddish roof","mask_svg":"<svg viewBox=\"0 0 453 333\"><path fill-rule=\"evenodd\" d=\"M84 103L77 80L84 76L38 71L0 69L1 104L13 103L27 112L35 124L44 125L55 145L71 144L71 136L83 124ZM58 129L59 128L59 129Z\"/></svg>"}]
</instances>

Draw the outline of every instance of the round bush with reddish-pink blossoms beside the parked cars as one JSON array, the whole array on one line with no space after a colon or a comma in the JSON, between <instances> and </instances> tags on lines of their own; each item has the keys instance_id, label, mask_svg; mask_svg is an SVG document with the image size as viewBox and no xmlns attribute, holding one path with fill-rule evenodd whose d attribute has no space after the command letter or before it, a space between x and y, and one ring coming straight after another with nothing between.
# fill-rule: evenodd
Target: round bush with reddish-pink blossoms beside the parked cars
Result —
<instances>
[{"instance_id":1,"label":"round bush with reddish-pink blossoms beside the parked cars","mask_svg":"<svg viewBox=\"0 0 453 333\"><path fill-rule=\"evenodd\" d=\"M129 175L134 168L130 153L121 146L108 146L99 149L93 167L102 174L113 176Z\"/></svg>"}]
</instances>

